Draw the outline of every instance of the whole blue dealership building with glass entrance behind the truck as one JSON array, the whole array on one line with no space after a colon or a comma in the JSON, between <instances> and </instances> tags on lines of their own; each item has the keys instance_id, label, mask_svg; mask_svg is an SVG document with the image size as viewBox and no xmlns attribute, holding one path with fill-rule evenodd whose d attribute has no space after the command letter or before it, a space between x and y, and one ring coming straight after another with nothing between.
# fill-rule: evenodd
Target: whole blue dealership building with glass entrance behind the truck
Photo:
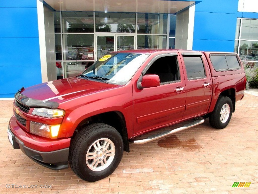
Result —
<instances>
[{"instance_id":1,"label":"whole blue dealership building with glass entrance behind the truck","mask_svg":"<svg viewBox=\"0 0 258 194\"><path fill-rule=\"evenodd\" d=\"M257 0L9 0L0 17L2 99L76 76L112 51L228 51L258 61Z\"/></svg>"}]
</instances>

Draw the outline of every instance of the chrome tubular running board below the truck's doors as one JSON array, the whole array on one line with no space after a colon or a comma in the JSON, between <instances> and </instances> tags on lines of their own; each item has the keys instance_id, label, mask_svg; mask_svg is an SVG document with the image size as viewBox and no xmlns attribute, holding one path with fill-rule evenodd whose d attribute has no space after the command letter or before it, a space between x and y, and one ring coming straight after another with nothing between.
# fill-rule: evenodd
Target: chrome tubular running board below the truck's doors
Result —
<instances>
[{"instance_id":1,"label":"chrome tubular running board below the truck's doors","mask_svg":"<svg viewBox=\"0 0 258 194\"><path fill-rule=\"evenodd\" d=\"M176 132L179 132L179 131L183 131L185 129L188 129L188 128L191 128L191 127L194 127L196 125L204 123L204 118L200 117L199 119L200 120L195 120L192 123L185 124L184 126L176 128L176 129L173 129L171 131L163 131L161 133L149 136L146 139L136 139L136 138L133 138L133 139L130 139L130 142L132 144L145 144L145 143L148 143L150 141L153 141L153 140L156 140L156 139L159 139L159 138L162 138L162 137L166 137L166 136L171 135L173 133L176 133Z\"/></svg>"}]
</instances>

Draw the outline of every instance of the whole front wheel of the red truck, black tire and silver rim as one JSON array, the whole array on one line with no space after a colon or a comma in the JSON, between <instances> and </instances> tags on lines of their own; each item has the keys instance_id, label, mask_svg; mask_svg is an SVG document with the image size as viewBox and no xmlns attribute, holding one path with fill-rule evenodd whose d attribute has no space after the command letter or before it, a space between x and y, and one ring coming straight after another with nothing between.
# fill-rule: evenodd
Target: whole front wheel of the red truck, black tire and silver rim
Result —
<instances>
[{"instance_id":1,"label":"whole front wheel of the red truck, black tire and silver rim","mask_svg":"<svg viewBox=\"0 0 258 194\"><path fill-rule=\"evenodd\" d=\"M91 124L79 131L71 142L69 164L79 178L98 181L114 172L122 159L123 148L123 139L115 128L103 123ZM87 158L93 158L86 160L87 154Z\"/></svg>"}]
</instances>

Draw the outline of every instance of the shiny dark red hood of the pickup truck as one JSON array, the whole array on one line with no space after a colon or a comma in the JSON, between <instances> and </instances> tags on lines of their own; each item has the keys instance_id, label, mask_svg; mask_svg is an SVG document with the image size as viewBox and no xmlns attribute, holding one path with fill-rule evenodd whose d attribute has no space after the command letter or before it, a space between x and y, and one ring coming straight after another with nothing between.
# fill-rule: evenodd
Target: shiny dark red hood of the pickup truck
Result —
<instances>
[{"instance_id":1,"label":"shiny dark red hood of the pickup truck","mask_svg":"<svg viewBox=\"0 0 258 194\"><path fill-rule=\"evenodd\" d=\"M71 98L115 87L120 86L72 77L31 86L23 89L21 94L36 100L61 103Z\"/></svg>"}]
</instances>

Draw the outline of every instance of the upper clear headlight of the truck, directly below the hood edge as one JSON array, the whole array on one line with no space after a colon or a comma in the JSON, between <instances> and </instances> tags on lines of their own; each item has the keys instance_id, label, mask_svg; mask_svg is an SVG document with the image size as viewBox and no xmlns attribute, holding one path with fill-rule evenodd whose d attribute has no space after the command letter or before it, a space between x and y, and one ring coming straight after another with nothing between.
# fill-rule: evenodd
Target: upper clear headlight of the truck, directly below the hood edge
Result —
<instances>
[{"instance_id":1,"label":"upper clear headlight of the truck, directly below the hood edge","mask_svg":"<svg viewBox=\"0 0 258 194\"><path fill-rule=\"evenodd\" d=\"M32 111L33 115L38 115L42 117L55 118L62 117L65 115L65 111L60 109L50 109L50 108L34 108Z\"/></svg>"}]
</instances>

